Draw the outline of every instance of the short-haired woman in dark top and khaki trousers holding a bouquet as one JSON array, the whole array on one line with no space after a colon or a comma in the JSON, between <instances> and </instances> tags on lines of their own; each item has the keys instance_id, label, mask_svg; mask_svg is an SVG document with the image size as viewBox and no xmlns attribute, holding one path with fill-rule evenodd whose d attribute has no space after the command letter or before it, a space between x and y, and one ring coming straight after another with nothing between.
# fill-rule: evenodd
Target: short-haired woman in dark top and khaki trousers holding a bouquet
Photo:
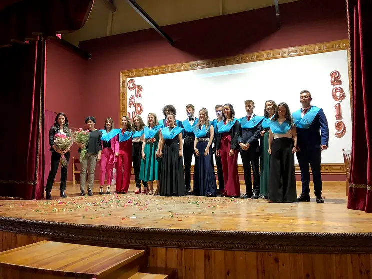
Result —
<instances>
[{"instance_id":1,"label":"short-haired woman in dark top and khaki trousers holding a bouquet","mask_svg":"<svg viewBox=\"0 0 372 279\"><path fill-rule=\"evenodd\" d=\"M94 172L96 163L101 160L102 154L102 132L95 128L96 120L93 116L88 116L85 119L85 124L88 126L89 131L89 141L85 146L82 143L77 145L80 147L79 152L86 148L86 154L81 162L81 172L80 172L80 196L85 195L85 183L86 183L86 170L89 161L89 176L88 176L88 195L93 195L93 185L94 185Z\"/></svg>"}]
</instances>

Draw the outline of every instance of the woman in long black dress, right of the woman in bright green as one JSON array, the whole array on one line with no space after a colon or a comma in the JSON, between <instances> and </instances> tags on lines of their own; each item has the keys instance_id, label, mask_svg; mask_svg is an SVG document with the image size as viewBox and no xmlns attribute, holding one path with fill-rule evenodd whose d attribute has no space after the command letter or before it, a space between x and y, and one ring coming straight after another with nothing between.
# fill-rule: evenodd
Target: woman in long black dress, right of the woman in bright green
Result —
<instances>
[{"instance_id":1,"label":"woman in long black dress, right of the woman in bright green","mask_svg":"<svg viewBox=\"0 0 372 279\"><path fill-rule=\"evenodd\" d=\"M183 196L186 190L182 159L183 128L175 125L174 114L168 114L166 119L168 126L161 130L164 140L161 141L160 147L162 157L160 195Z\"/></svg>"}]
</instances>

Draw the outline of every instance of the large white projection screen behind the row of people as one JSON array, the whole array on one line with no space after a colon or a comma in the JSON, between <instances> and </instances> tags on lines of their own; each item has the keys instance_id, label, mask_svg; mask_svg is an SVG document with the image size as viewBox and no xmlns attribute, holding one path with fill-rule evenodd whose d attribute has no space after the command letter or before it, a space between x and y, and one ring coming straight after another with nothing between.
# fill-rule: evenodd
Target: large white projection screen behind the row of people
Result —
<instances>
[{"instance_id":1,"label":"large white projection screen behind the row of people","mask_svg":"<svg viewBox=\"0 0 372 279\"><path fill-rule=\"evenodd\" d=\"M339 72L341 85L331 84L332 71ZM286 102L293 113L301 107L300 92L308 90L312 94L312 105L324 110L329 125L329 149L322 152L322 163L343 163L342 149L351 148L347 50L127 77L126 82L127 115L132 116L135 111L135 106L129 103L133 95L135 102L143 107L141 116L146 124L149 112L154 112L159 119L163 119L162 108L166 104L175 106L176 118L181 121L187 118L185 107L189 103L195 106L195 115L198 115L200 108L205 107L209 111L210 119L215 118L215 105L225 103L233 105L236 117L245 116L244 101L247 99L255 102L254 113L257 115L263 115L266 100L274 100L277 104ZM137 97L133 89L134 83L135 86L141 86L140 95ZM341 87L345 93L341 102L332 97L335 87ZM337 103L338 108L341 107L341 121L346 126L346 132L340 138L335 135ZM242 163L240 156L238 162Z\"/></svg>"}]
</instances>

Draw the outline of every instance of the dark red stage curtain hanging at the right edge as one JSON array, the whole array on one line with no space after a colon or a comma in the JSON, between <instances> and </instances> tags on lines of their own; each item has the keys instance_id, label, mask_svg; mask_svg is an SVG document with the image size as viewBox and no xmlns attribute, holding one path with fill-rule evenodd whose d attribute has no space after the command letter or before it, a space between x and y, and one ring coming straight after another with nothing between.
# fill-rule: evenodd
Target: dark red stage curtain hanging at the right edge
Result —
<instances>
[{"instance_id":1,"label":"dark red stage curtain hanging at the right edge","mask_svg":"<svg viewBox=\"0 0 372 279\"><path fill-rule=\"evenodd\" d=\"M347 208L372 213L372 1L347 0L352 67L352 164Z\"/></svg>"}]
</instances>

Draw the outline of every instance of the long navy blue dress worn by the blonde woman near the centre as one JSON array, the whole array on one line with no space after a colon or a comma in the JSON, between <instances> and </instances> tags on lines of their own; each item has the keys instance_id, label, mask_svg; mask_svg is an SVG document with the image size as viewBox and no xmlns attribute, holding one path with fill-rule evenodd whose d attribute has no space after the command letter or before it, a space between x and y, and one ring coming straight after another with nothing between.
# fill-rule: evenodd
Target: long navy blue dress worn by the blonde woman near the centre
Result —
<instances>
[{"instance_id":1,"label":"long navy blue dress worn by the blonde woman near the centre","mask_svg":"<svg viewBox=\"0 0 372 279\"><path fill-rule=\"evenodd\" d=\"M209 138L209 132L201 138ZM204 156L205 149L208 148L209 141L198 141L196 148L199 151L199 157L195 161L193 195L217 196L217 182L215 180L213 151L209 147L209 154Z\"/></svg>"}]
</instances>

